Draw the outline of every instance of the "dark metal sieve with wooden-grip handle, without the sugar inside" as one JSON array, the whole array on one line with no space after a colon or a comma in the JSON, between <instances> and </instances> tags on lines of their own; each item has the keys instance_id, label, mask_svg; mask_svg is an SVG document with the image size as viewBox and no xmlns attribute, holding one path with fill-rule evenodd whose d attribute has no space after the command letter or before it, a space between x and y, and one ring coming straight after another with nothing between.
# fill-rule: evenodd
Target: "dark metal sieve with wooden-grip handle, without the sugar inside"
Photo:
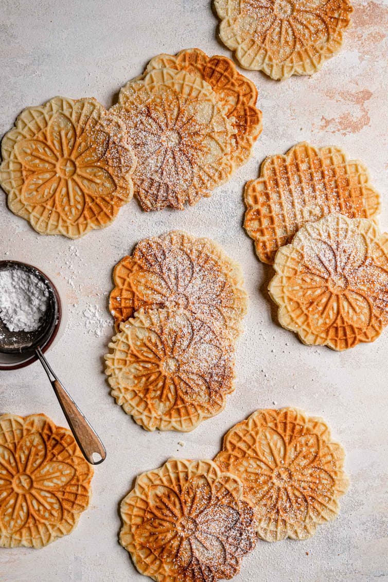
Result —
<instances>
[{"instance_id":1,"label":"dark metal sieve with wooden-grip handle, without the sugar inside","mask_svg":"<svg viewBox=\"0 0 388 582\"><path fill-rule=\"evenodd\" d=\"M40 327L32 332L10 331L0 318L0 352L8 354L35 353L54 388L56 398L59 400L63 414L65 414L67 423L69 423L69 427L84 457L90 464L97 465L102 463L106 457L105 446L69 392L67 392L65 386L59 381L42 353L42 348L49 341L58 320L60 310L58 292L47 276L36 267L23 262L0 261L0 270L2 269L22 269L40 279L48 292L48 306L42 317ZM96 458L97 456L98 459Z\"/></svg>"}]
</instances>

